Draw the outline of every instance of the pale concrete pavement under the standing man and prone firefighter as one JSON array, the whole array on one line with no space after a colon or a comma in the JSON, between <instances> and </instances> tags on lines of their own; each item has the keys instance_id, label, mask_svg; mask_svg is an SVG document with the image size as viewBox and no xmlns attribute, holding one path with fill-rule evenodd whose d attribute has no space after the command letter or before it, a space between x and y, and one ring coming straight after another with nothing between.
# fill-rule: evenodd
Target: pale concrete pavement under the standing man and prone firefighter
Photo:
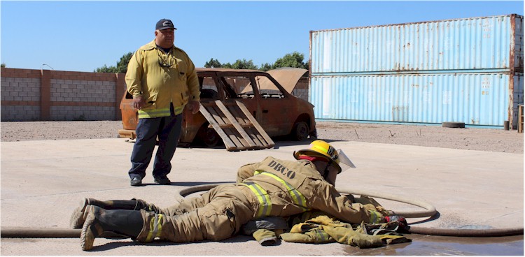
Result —
<instances>
[{"instance_id":1,"label":"pale concrete pavement under the standing man and prone firefighter","mask_svg":"<svg viewBox=\"0 0 525 257\"><path fill-rule=\"evenodd\" d=\"M515 228L524 224L524 155L365 142L330 142L356 164L337 178L337 187L419 198L434 205L439 219L409 219L429 228ZM275 149L227 152L222 148L179 148L172 160L171 185L153 184L151 168L143 183L130 186L132 143L125 139L1 142L2 228L68 228L83 197L100 200L141 198L160 207L174 203L176 189L235 182L237 168L265 156L293 159L306 143L277 142ZM416 207L377 199L390 210ZM420 222L424 221L424 222ZM356 249L343 244L281 242L261 247L250 237L224 242L139 244L99 239L94 253L80 250L76 238L1 239L2 255L190 255L297 256L409 252L412 244ZM523 240L523 237L521 237ZM518 247L519 248L519 247ZM521 246L521 254L523 254ZM393 253L395 254L395 250ZM419 253L421 254L421 253ZM432 254L425 252L423 255Z\"/></svg>"}]
</instances>

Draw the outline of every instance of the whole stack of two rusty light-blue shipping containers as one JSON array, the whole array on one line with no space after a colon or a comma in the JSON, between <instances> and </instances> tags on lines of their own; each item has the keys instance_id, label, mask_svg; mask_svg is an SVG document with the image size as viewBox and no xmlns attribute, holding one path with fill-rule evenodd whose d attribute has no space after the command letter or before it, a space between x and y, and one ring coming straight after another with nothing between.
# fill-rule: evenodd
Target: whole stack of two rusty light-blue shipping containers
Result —
<instances>
[{"instance_id":1,"label":"whole stack of two rusty light-blue shipping containers","mask_svg":"<svg viewBox=\"0 0 525 257\"><path fill-rule=\"evenodd\" d=\"M523 17L310 31L316 119L517 127Z\"/></svg>"}]
</instances>

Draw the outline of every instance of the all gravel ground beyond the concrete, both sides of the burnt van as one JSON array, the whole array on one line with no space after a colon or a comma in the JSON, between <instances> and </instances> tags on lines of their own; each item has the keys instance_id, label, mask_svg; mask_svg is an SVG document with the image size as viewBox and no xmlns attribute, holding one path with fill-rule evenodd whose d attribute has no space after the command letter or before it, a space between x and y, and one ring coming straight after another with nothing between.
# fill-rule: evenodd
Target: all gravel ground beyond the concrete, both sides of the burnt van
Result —
<instances>
[{"instance_id":1,"label":"all gravel ground beyond the concrete, both sides of the burnt van","mask_svg":"<svg viewBox=\"0 0 525 257\"><path fill-rule=\"evenodd\" d=\"M1 122L1 142L117 138L120 121ZM523 133L503 129L317 122L318 138L523 154Z\"/></svg>"}]
</instances>

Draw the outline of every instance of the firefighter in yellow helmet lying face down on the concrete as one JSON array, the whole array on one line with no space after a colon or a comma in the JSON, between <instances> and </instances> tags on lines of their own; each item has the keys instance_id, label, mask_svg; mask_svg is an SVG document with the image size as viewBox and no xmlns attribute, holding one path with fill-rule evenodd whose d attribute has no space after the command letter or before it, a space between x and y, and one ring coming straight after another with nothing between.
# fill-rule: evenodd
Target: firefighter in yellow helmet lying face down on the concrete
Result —
<instances>
[{"instance_id":1,"label":"firefighter in yellow helmet lying face down on the concrete","mask_svg":"<svg viewBox=\"0 0 525 257\"><path fill-rule=\"evenodd\" d=\"M337 192L335 180L342 166L355 168L342 151L315 140L293 156L296 161L269 156L242 166L236 184L216 186L166 209L144 200L85 198L71 216L71 227L82 228L80 244L88 251L94 238L108 231L139 242L219 241L239 233L248 221L311 210L348 223L391 220L390 212L365 208Z\"/></svg>"}]
</instances>

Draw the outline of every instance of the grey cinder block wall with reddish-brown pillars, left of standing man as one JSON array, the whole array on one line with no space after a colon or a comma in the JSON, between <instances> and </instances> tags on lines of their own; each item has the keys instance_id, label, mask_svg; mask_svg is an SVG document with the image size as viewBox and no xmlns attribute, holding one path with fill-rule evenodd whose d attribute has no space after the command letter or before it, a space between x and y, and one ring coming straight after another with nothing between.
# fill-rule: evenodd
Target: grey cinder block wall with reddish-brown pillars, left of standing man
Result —
<instances>
[{"instance_id":1,"label":"grey cinder block wall with reddish-brown pillars, left of standing man","mask_svg":"<svg viewBox=\"0 0 525 257\"><path fill-rule=\"evenodd\" d=\"M2 122L120 120L123 73L1 68Z\"/></svg>"}]
</instances>

